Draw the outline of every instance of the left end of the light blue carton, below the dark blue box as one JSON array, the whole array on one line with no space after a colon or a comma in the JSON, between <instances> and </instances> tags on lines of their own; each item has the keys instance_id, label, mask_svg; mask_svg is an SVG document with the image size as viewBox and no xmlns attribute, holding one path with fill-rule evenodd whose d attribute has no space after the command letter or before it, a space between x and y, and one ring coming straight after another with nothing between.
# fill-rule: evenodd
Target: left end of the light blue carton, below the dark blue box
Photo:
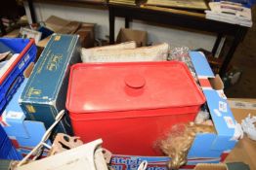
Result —
<instances>
[{"instance_id":1,"label":"left end of the light blue carton, below the dark blue box","mask_svg":"<svg viewBox=\"0 0 256 170\"><path fill-rule=\"evenodd\" d=\"M17 155L23 156L29 153L41 141L46 132L43 122L25 119L25 115L18 103L21 92L27 84L27 80L24 79L0 117L0 123L3 129L19 153ZM16 153L15 148L12 149L13 151L11 153ZM46 155L47 153L45 152L43 154Z\"/></svg>"}]
</instances>

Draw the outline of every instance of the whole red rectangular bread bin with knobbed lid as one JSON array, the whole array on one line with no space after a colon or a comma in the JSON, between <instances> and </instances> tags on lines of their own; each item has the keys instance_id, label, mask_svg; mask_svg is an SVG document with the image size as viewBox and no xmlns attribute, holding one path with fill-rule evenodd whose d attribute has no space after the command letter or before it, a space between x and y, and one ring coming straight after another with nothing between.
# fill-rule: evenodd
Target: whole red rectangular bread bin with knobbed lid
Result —
<instances>
[{"instance_id":1,"label":"whole red rectangular bread bin with knobbed lid","mask_svg":"<svg viewBox=\"0 0 256 170\"><path fill-rule=\"evenodd\" d=\"M75 64L66 109L74 134L116 154L159 155L155 142L192 121L204 95L178 61Z\"/></svg>"}]
</instances>

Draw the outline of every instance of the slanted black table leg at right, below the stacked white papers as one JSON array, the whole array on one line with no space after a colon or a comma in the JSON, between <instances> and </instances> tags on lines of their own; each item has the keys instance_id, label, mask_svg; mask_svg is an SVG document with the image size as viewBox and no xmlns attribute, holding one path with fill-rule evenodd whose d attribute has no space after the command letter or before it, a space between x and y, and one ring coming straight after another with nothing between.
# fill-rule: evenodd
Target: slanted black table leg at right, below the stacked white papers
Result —
<instances>
[{"instance_id":1,"label":"slanted black table leg at right, below the stacked white papers","mask_svg":"<svg viewBox=\"0 0 256 170\"><path fill-rule=\"evenodd\" d=\"M242 36L244 35L244 31L246 31L246 30L243 28L237 28L231 48L228 51L226 57L224 58L223 64L220 69L221 77L223 77L225 75L225 73L228 69L228 66L233 58L234 53L235 53L235 50L236 50L237 46L239 45L239 42L241 41Z\"/></svg>"}]
</instances>

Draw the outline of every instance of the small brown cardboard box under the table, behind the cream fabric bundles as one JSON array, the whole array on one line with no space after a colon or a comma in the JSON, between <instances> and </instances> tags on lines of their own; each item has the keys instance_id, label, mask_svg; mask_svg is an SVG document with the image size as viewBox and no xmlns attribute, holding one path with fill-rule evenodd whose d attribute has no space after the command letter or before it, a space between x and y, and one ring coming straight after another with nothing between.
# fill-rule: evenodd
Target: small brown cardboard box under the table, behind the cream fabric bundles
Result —
<instances>
[{"instance_id":1,"label":"small brown cardboard box under the table, behind the cream fabric bundles","mask_svg":"<svg viewBox=\"0 0 256 170\"><path fill-rule=\"evenodd\" d=\"M135 41L137 47L146 46L148 43L148 33L141 30L121 28L118 33L116 43L119 44L130 41Z\"/></svg>"}]
</instances>

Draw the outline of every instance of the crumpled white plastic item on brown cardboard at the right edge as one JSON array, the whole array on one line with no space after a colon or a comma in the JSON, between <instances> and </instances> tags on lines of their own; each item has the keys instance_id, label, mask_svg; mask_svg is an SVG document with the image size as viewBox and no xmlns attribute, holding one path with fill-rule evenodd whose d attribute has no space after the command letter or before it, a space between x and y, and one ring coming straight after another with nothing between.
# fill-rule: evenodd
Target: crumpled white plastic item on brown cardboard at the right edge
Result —
<instances>
[{"instance_id":1,"label":"crumpled white plastic item on brown cardboard at the right edge","mask_svg":"<svg viewBox=\"0 0 256 170\"><path fill-rule=\"evenodd\" d=\"M241 127L244 133L248 135L251 140L256 141L256 117L252 117L250 114L241 120Z\"/></svg>"}]
</instances>

